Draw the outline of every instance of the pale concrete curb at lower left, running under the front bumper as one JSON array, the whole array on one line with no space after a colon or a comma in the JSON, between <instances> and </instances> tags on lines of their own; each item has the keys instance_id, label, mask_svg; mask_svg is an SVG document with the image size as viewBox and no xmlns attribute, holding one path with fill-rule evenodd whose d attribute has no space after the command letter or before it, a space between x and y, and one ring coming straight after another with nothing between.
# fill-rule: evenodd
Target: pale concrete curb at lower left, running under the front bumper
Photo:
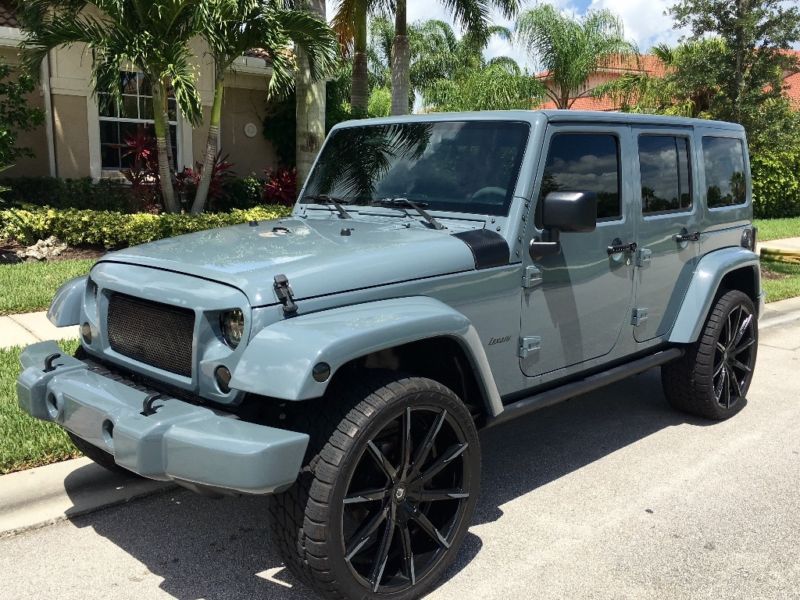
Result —
<instances>
[{"instance_id":1,"label":"pale concrete curb at lower left, running under the front bumper","mask_svg":"<svg viewBox=\"0 0 800 600\"><path fill-rule=\"evenodd\" d=\"M88 458L0 476L0 539L175 487L112 473Z\"/></svg>"}]
</instances>

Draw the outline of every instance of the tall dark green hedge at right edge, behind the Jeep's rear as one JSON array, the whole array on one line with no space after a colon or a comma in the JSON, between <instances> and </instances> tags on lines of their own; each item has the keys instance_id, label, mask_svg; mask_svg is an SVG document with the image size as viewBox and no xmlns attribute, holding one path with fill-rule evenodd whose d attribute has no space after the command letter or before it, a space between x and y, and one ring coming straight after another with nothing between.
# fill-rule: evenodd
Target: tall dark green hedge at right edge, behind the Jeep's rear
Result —
<instances>
[{"instance_id":1,"label":"tall dark green hedge at right edge, behind the Jeep's rear","mask_svg":"<svg viewBox=\"0 0 800 600\"><path fill-rule=\"evenodd\" d=\"M800 145L762 149L750 157L757 218L800 216Z\"/></svg>"}]
</instances>

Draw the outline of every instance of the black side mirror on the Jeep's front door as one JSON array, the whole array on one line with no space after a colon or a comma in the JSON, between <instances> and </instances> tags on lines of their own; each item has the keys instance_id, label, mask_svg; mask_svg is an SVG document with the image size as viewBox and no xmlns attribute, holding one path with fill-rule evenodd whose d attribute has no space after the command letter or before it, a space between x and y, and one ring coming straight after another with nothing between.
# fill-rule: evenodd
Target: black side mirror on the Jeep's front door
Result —
<instances>
[{"instance_id":1,"label":"black side mirror on the Jeep's front door","mask_svg":"<svg viewBox=\"0 0 800 600\"><path fill-rule=\"evenodd\" d=\"M528 252L538 260L561 252L562 231L581 233L597 227L597 194L594 192L550 192L542 202L545 240L531 241Z\"/></svg>"}]
</instances>

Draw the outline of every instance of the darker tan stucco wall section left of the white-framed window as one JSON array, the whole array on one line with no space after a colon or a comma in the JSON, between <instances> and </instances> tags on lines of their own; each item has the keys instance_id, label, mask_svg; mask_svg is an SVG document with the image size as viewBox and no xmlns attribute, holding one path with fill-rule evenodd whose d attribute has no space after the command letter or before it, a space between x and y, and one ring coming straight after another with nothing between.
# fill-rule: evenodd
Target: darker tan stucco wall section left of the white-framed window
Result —
<instances>
[{"instance_id":1,"label":"darker tan stucco wall section left of the white-framed window","mask_svg":"<svg viewBox=\"0 0 800 600\"><path fill-rule=\"evenodd\" d=\"M86 97L53 94L53 134L59 177L89 176Z\"/></svg>"}]
</instances>

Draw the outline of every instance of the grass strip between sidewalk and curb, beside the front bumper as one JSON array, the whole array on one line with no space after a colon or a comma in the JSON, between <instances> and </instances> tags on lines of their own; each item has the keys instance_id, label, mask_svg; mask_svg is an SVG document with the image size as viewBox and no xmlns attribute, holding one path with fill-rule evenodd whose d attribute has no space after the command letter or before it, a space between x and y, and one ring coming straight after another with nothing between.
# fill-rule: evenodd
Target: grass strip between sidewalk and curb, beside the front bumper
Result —
<instances>
[{"instance_id":1,"label":"grass strip between sidewalk and curb, beside the front bumper","mask_svg":"<svg viewBox=\"0 0 800 600\"><path fill-rule=\"evenodd\" d=\"M59 344L69 354L78 347L77 341ZM17 405L21 352L0 349L0 475L80 456L64 430L29 417Z\"/></svg>"}]
</instances>

